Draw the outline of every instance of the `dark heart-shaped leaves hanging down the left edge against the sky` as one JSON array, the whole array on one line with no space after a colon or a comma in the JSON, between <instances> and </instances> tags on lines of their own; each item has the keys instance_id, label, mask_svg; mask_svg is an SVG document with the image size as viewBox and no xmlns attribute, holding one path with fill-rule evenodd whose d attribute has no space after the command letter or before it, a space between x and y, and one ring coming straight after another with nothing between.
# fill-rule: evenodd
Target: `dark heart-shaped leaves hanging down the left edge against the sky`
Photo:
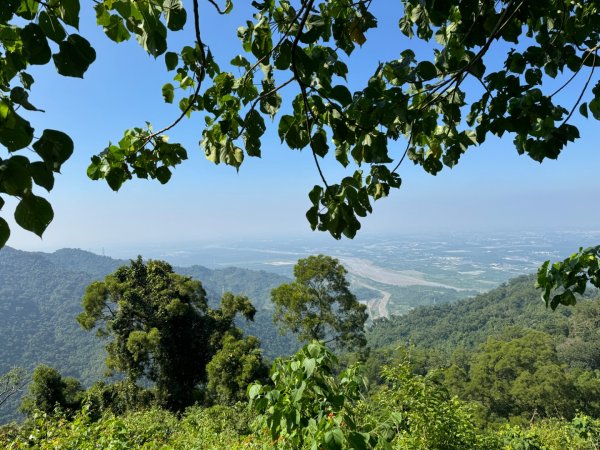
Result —
<instances>
[{"instance_id":1,"label":"dark heart-shaped leaves hanging down the left edge against the sky","mask_svg":"<svg viewBox=\"0 0 600 450\"><path fill-rule=\"evenodd\" d=\"M41 236L54 217L52 206L33 192L48 192L54 175L73 153L73 141L62 131L46 129L34 136L25 114L43 112L30 101L34 78L28 67L53 61L57 72L82 78L96 59L89 42L77 33L79 0L9 0L0 13L0 209L3 196L17 199L16 223ZM30 150L34 157L23 155ZM10 236L0 217L0 248Z\"/></svg>"}]
</instances>

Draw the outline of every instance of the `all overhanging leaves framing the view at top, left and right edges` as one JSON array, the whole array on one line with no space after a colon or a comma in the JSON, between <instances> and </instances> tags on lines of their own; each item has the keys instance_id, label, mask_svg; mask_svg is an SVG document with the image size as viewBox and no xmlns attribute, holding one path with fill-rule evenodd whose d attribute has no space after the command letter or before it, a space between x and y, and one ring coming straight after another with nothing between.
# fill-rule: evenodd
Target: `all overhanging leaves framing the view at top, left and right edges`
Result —
<instances>
[{"instance_id":1,"label":"all overhanging leaves framing the view at top, left and right edges","mask_svg":"<svg viewBox=\"0 0 600 450\"><path fill-rule=\"evenodd\" d=\"M234 7L231 0L208 3L220 14ZM165 133L196 112L205 118L200 144L207 158L239 168L246 156L260 156L261 137L274 122L282 142L314 156L322 183L309 194L311 227L352 238L371 202L400 187L398 168L406 158L435 175L490 135L509 134L518 153L542 162L580 137L571 123L576 111L600 119L600 82L591 85L600 64L598 1L403 0L398 35L388 41L399 43L399 58L380 62L366 85L350 92L346 58L377 26L371 3L254 1L255 14L238 29L242 54L227 62L204 44L199 0L188 9L181 0L96 2L97 23L109 39L134 35L174 72L173 83L161 90L180 112L156 131L150 124L125 130L92 158L88 176L105 179L113 190L134 176L168 182L187 150ZM52 61L60 75L83 77L96 53L78 34L79 16L78 0L8 0L0 12L0 145L8 153L0 161L0 194L18 200L16 223L37 235L54 213L33 185L50 191L74 144L62 131L36 132L23 117L39 110L30 101L34 79L27 68ZM195 42L169 48L168 34L186 25ZM401 36L432 47L433 58L421 59L413 45L403 48ZM500 67L495 61L502 52ZM229 71L232 66L242 75ZM580 73L579 94L561 97ZM284 88L293 90L289 114L279 114ZM177 99L176 91L182 92ZM394 159L389 146L400 139L406 148ZM33 157L23 154L28 148ZM342 180L327 180L321 171L320 158L329 152L348 169ZM0 217L0 246L9 235ZM582 256L575 269L540 269L552 307L573 304L588 281L600 284L598 249ZM550 298L561 286L565 292Z\"/></svg>"}]
</instances>

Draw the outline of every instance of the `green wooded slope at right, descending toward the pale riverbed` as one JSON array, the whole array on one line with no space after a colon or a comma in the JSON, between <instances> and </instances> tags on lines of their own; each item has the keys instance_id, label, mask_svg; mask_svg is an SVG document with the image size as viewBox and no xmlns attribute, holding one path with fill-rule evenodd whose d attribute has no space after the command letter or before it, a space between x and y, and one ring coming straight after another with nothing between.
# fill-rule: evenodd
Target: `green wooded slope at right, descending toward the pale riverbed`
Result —
<instances>
[{"instance_id":1,"label":"green wooded slope at right, descending toward the pale riverbed","mask_svg":"<svg viewBox=\"0 0 600 450\"><path fill-rule=\"evenodd\" d=\"M376 322L368 376L408 358L420 374L438 372L481 423L529 423L600 414L598 301L549 314L533 277L519 277L453 305L423 307ZM401 344L405 350L398 351Z\"/></svg>"}]
</instances>

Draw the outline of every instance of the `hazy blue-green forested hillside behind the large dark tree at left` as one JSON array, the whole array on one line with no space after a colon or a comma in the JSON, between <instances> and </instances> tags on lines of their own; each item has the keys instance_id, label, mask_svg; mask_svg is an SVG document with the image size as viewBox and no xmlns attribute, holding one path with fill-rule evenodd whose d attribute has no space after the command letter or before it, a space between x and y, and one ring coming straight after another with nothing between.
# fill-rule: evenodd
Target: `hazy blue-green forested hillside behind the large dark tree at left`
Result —
<instances>
[{"instance_id":1,"label":"hazy blue-green forested hillside behind the large dark tree at left","mask_svg":"<svg viewBox=\"0 0 600 450\"><path fill-rule=\"evenodd\" d=\"M75 318L81 312L86 286L125 263L77 249L54 253L0 250L0 374L13 366L31 372L47 364L85 385L102 378L104 342L81 329ZM268 310L271 289L287 278L239 268L176 270L200 280L213 306L226 291L247 295L258 312L255 322L241 321L240 325L261 339L268 358L298 348L294 338L279 335ZM11 398L0 408L0 422L13 415L19 401Z\"/></svg>"}]
</instances>

